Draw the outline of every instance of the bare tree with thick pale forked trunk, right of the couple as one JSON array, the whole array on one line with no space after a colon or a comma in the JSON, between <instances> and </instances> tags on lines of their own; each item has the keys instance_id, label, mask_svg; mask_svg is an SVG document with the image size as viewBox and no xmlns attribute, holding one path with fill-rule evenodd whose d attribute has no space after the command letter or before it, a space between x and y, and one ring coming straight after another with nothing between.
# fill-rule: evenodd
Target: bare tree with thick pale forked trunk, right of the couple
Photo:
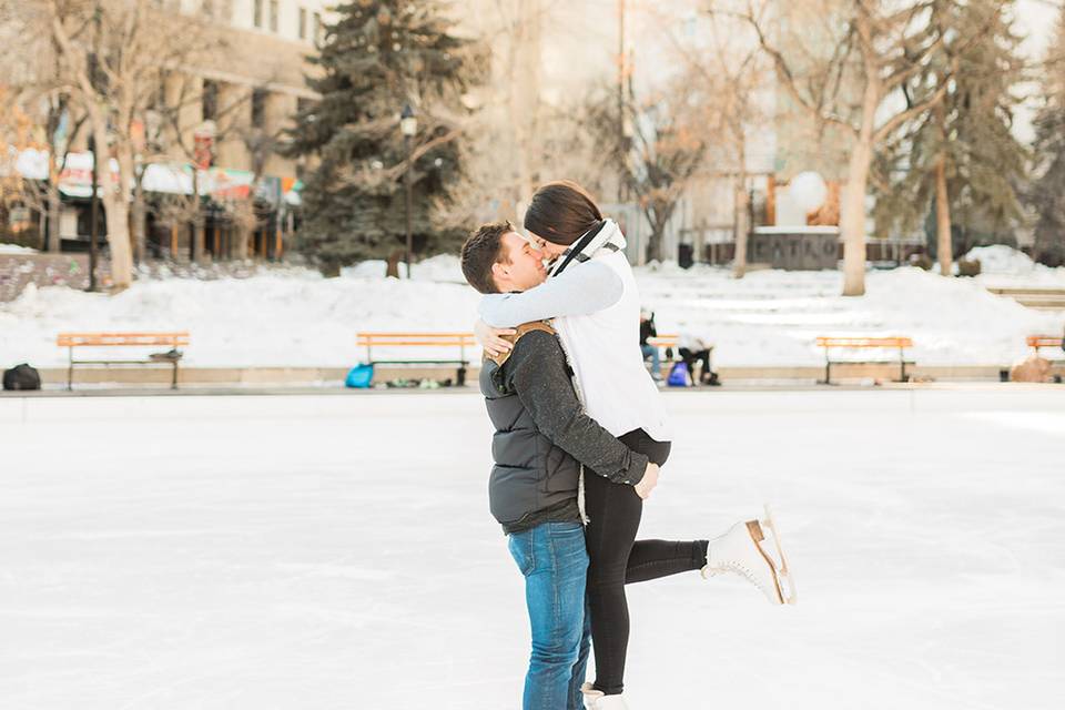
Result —
<instances>
[{"instance_id":1,"label":"bare tree with thick pale forked trunk, right of the couple","mask_svg":"<svg viewBox=\"0 0 1065 710\"><path fill-rule=\"evenodd\" d=\"M841 211L843 295L865 293L865 194L874 150L900 125L931 111L946 91L944 82L920 102L903 92L942 41L921 31L931 4L931 0L711 4L711 12L740 18L755 31L792 104L819 126L833 126L850 139Z\"/></svg>"}]
</instances>

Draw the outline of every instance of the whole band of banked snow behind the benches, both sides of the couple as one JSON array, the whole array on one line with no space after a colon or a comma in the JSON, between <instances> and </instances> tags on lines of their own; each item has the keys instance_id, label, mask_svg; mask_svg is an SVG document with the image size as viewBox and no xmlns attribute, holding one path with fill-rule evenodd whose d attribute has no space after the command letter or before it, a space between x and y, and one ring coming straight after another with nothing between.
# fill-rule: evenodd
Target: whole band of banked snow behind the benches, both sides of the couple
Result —
<instances>
[{"instance_id":1,"label":"whole band of banked snow behind the benches, both sides of the couple","mask_svg":"<svg viewBox=\"0 0 1065 710\"><path fill-rule=\"evenodd\" d=\"M339 278L306 268L258 270L247 278L148 278L116 296L28 288L0 304L0 366L62 366L65 353L54 344L62 331L186 329L185 362L193 366L344 367L365 356L356 346L359 331L471 328L478 294L463 283L456 256L416 264L410 281L384 273L378 261ZM1013 278L1035 282L1039 273ZM824 361L819 335L904 335L914 339L907 355L921 364L1010 365L1027 356L1025 336L1058 333L1065 322L1061 312L988 293L982 278L913 267L870 272L861 297L841 296L842 275L834 271L759 271L737 281L726 268L663 263L636 275L659 332L714 343L716 364L726 366L818 366Z\"/></svg>"}]
</instances>

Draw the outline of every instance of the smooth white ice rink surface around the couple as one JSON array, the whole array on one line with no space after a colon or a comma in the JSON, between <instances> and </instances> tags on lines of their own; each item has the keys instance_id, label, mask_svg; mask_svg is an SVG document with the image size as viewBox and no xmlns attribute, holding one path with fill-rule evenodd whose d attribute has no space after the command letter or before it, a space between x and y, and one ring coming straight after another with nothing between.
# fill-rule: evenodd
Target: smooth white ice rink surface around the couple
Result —
<instances>
[{"instance_id":1,"label":"smooth white ice rink surface around the couple","mask_svg":"<svg viewBox=\"0 0 1065 710\"><path fill-rule=\"evenodd\" d=\"M772 500L800 604L630 588L632 707L1061 708L1062 397L668 395L643 535ZM488 438L465 394L0 398L0 707L517 708Z\"/></svg>"}]
</instances>

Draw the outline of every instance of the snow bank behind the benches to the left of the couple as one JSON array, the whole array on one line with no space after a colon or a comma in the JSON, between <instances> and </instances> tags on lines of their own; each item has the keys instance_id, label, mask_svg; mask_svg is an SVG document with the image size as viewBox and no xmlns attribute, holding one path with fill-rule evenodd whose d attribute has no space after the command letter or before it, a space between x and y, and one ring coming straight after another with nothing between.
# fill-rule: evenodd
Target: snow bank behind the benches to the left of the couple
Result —
<instances>
[{"instance_id":1,"label":"snow bank behind the benches to the left of the couple","mask_svg":"<svg viewBox=\"0 0 1065 710\"><path fill-rule=\"evenodd\" d=\"M466 332L476 307L466 285L307 270L139 281L115 296L30 287L0 304L0 365L62 365L62 331L179 329L191 333L184 362L192 366L346 366L362 356L359 331Z\"/></svg>"}]
</instances>

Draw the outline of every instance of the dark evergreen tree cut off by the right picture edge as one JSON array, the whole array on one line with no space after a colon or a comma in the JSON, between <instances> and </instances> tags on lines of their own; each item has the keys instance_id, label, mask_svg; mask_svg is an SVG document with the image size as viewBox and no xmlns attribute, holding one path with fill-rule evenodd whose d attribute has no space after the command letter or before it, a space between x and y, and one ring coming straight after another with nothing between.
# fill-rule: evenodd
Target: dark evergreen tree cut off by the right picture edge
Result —
<instances>
[{"instance_id":1,"label":"dark evergreen tree cut off by the right picture edge","mask_svg":"<svg viewBox=\"0 0 1065 710\"><path fill-rule=\"evenodd\" d=\"M1043 101L1035 118L1035 180L1028 205L1035 211L1037 261L1065 265L1065 11L1049 48Z\"/></svg>"}]
</instances>

